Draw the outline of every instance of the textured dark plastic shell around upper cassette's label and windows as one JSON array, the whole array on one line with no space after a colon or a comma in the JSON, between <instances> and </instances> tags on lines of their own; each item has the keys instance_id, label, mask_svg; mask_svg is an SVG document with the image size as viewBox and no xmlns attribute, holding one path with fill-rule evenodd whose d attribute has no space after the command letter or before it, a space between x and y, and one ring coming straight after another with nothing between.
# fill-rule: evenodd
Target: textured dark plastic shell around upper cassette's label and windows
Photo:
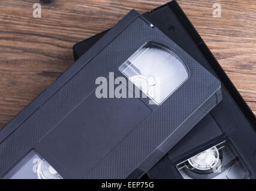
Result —
<instances>
[{"instance_id":1,"label":"textured dark plastic shell around upper cassette's label and windows","mask_svg":"<svg viewBox=\"0 0 256 191\"><path fill-rule=\"evenodd\" d=\"M91 51L80 58L75 66L82 64L84 67L80 68L81 70L75 70L76 67L73 67L72 69L77 72L75 76L67 75L68 73L62 75L62 78L68 78L67 83L23 124L16 127L12 134L3 139L0 144L1 175L13 167L29 150L35 148L63 178L126 178L129 175L132 178L140 177L206 115L206 108L210 110L218 103L217 94L220 93L221 87L218 79L160 30L150 27L144 19L135 15L130 14L132 19L128 20L134 20L130 21L130 24L124 24L122 27L118 25L118 28L125 28L125 30L121 33L117 27L110 30L105 39L101 39L101 42L98 42ZM111 41L111 38L108 39L110 35L116 38ZM102 49L103 41L107 41L108 44L104 49ZM57 131L55 126L95 90L97 87L95 79L98 76L107 77L109 72L114 71L147 41L156 41L175 50L176 54L188 65L189 79L161 106L153 109L152 115L141 122L138 127L134 127L134 130L124 140L120 141L100 163L92 168L92 171L86 173L84 166L70 171L73 165L71 163L64 165L64 161L59 160L57 152L57 149L65 150L66 148L60 143L60 146L56 147L56 152L49 152L40 140L43 141L42 138L46 134L50 135L53 131ZM113 116L116 114L120 115L120 112L113 113ZM90 127L86 127L86 124L85 128L90 131ZM70 126L67 130L73 129ZM80 132L78 131L77 134ZM61 136L65 132L59 128L58 133ZM80 135L83 136L83 134ZM59 144L58 138L57 136L55 139L57 144ZM95 138L97 139L97 136ZM85 143L83 141L86 140L81 141ZM85 147L77 145L72 154L73 157L83 159L84 156L80 155L90 153L86 153Z\"/></svg>"}]
</instances>

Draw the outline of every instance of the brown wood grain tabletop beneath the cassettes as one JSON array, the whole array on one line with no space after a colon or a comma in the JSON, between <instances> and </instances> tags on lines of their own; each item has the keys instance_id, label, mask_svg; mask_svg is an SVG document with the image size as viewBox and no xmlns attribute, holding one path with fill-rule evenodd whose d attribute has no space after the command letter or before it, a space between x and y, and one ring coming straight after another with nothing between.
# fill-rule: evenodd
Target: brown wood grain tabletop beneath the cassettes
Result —
<instances>
[{"instance_id":1,"label":"brown wood grain tabletop beneath the cassettes","mask_svg":"<svg viewBox=\"0 0 256 191\"><path fill-rule=\"evenodd\" d=\"M114 26L134 8L150 11L156 0L0 1L0 129L49 87L73 61L72 47ZM178 0L240 94L256 114L255 0ZM221 18L212 16L221 4Z\"/></svg>"}]
</instances>

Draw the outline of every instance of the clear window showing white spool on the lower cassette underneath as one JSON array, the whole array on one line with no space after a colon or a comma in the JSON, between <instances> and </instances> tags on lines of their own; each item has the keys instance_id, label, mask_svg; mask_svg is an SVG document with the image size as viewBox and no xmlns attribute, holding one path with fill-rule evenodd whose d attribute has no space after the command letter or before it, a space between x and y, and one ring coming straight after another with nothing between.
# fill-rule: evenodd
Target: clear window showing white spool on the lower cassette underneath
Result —
<instances>
[{"instance_id":1,"label":"clear window showing white spool on the lower cassette underneath","mask_svg":"<svg viewBox=\"0 0 256 191\"><path fill-rule=\"evenodd\" d=\"M185 179L248 179L245 165L227 141L177 165Z\"/></svg>"}]
</instances>

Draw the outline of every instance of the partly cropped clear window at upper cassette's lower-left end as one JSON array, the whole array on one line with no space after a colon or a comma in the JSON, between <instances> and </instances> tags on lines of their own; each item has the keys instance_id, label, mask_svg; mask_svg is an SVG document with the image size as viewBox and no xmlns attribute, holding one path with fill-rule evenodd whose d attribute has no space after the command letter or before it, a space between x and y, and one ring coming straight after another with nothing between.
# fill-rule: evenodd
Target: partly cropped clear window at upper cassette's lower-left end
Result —
<instances>
[{"instance_id":1,"label":"partly cropped clear window at upper cassette's lower-left end","mask_svg":"<svg viewBox=\"0 0 256 191\"><path fill-rule=\"evenodd\" d=\"M35 150L31 150L25 158L18 162L4 179L61 179L55 169L49 165Z\"/></svg>"}]
</instances>

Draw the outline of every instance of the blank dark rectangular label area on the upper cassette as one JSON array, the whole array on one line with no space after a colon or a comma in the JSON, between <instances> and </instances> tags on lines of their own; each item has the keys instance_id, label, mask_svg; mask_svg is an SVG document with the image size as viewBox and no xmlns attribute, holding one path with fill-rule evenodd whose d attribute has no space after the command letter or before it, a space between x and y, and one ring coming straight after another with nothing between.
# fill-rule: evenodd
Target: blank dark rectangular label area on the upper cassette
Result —
<instances>
[{"instance_id":1,"label":"blank dark rectangular label area on the upper cassette","mask_svg":"<svg viewBox=\"0 0 256 191\"><path fill-rule=\"evenodd\" d=\"M68 174L82 178L150 113L138 98L97 98L93 92L40 144Z\"/></svg>"}]
</instances>

